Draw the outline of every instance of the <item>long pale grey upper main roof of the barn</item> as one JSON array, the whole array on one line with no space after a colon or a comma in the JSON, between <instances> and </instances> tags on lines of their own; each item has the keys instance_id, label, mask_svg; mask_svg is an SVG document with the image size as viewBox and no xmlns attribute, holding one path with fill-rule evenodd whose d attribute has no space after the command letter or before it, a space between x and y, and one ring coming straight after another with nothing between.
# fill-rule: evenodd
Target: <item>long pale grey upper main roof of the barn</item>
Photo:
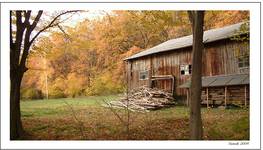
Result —
<instances>
[{"instance_id":1,"label":"long pale grey upper main roof of the barn","mask_svg":"<svg viewBox=\"0 0 263 150\"><path fill-rule=\"evenodd\" d=\"M230 38L231 36L236 34L236 31L240 30L240 26L244 23L245 22L241 22L241 23L225 26L223 28L217 28L217 29L205 31L203 36L203 41L204 43L209 43L217 40ZM188 35L177 39L171 39L157 46L154 46L150 49L132 55L124 60L130 60L155 53L171 51L179 48L185 48L191 46L192 43L193 43L193 35Z\"/></svg>"}]
</instances>

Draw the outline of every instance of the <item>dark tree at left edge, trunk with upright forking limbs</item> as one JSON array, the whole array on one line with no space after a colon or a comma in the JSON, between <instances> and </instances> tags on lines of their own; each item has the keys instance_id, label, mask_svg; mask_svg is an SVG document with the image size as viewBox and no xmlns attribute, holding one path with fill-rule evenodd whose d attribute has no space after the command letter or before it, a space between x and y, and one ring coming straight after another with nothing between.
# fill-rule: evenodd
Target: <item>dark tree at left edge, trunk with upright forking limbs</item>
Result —
<instances>
[{"instance_id":1,"label":"dark tree at left edge, trunk with upright forking limbs","mask_svg":"<svg viewBox=\"0 0 263 150\"><path fill-rule=\"evenodd\" d=\"M10 11L10 139L16 140L23 134L20 112L20 87L24 73L27 71L26 59L34 39L30 35L35 29L43 11L30 24L31 11L14 11L15 27L12 25L12 11ZM15 35L13 35L15 32Z\"/></svg>"}]
</instances>

